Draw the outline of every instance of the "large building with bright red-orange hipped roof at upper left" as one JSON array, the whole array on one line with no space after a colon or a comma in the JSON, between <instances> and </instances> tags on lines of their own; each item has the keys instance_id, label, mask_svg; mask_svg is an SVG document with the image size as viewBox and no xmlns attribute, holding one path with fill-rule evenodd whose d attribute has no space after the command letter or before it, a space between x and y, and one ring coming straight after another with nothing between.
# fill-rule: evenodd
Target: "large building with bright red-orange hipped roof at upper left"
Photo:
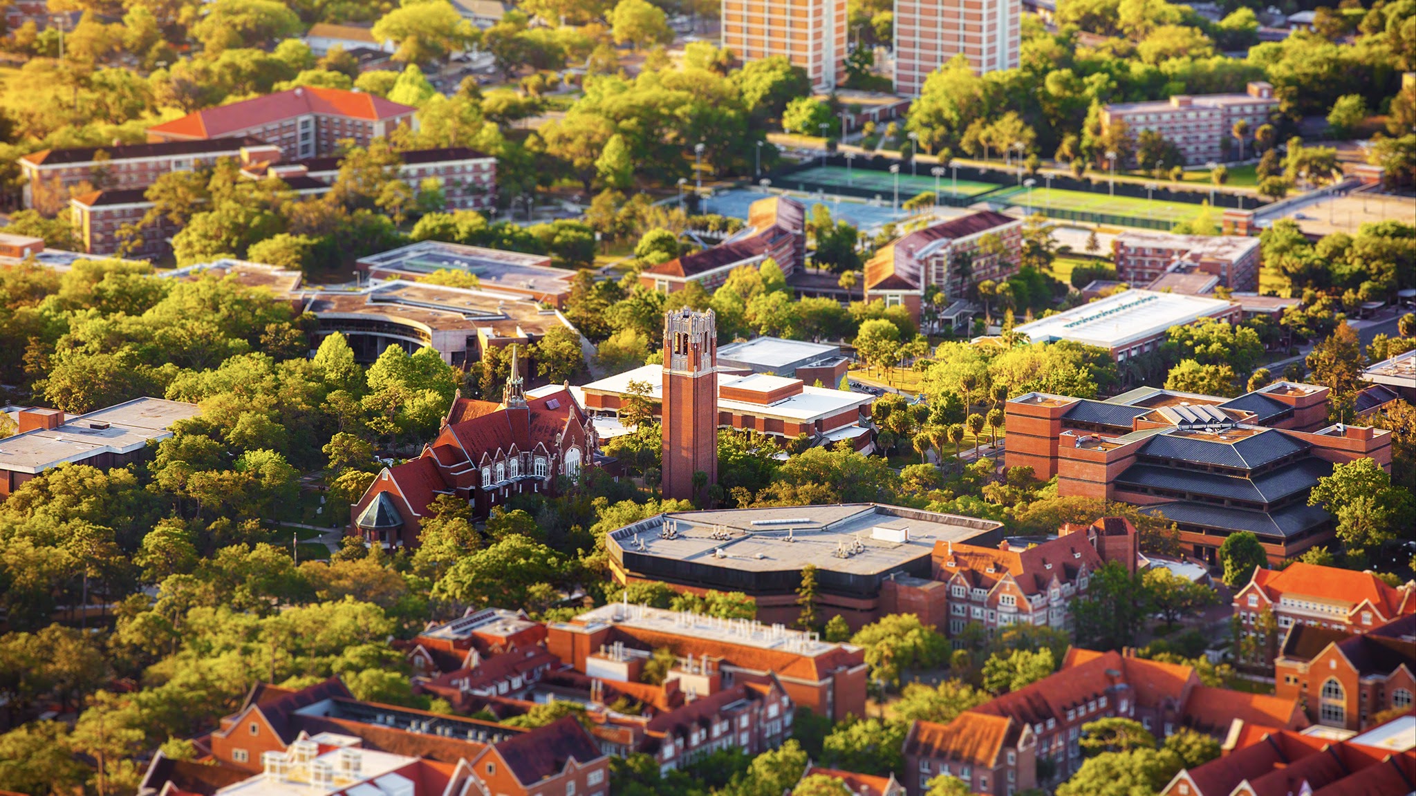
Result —
<instances>
[{"instance_id":1,"label":"large building with bright red-orange hipped roof at upper left","mask_svg":"<svg viewBox=\"0 0 1416 796\"><path fill-rule=\"evenodd\" d=\"M338 142L368 146L399 125L418 125L416 108L372 93L302 86L188 113L147 127L147 140L191 142L252 136L290 160L334 154Z\"/></svg>"}]
</instances>

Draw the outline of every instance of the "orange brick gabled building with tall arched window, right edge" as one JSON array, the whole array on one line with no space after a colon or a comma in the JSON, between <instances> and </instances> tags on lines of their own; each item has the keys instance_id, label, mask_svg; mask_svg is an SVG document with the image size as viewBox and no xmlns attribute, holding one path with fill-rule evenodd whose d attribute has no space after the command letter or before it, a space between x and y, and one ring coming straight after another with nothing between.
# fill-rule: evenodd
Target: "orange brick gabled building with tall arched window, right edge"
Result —
<instances>
[{"instance_id":1,"label":"orange brick gabled building with tall arched window, right edge","mask_svg":"<svg viewBox=\"0 0 1416 796\"><path fill-rule=\"evenodd\" d=\"M1365 633L1294 623L1273 661L1274 693L1303 703L1308 720L1366 729L1416 694L1416 613Z\"/></svg>"}]
</instances>

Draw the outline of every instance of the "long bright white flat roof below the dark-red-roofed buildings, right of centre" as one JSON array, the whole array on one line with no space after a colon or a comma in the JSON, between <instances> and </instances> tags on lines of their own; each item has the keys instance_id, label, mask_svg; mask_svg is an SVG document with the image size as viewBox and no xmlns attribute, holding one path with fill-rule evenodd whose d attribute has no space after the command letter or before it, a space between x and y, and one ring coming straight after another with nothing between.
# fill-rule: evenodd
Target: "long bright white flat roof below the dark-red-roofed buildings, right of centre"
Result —
<instances>
[{"instance_id":1,"label":"long bright white flat roof below the dark-red-roofed buildings, right of centre","mask_svg":"<svg viewBox=\"0 0 1416 796\"><path fill-rule=\"evenodd\" d=\"M1182 293L1154 290L1123 290L1089 305L1073 307L1032 323L1015 331L1034 343L1072 340L1102 348L1117 348L1164 334L1171 326L1184 326L1202 317L1218 314L1233 302Z\"/></svg>"}]
</instances>

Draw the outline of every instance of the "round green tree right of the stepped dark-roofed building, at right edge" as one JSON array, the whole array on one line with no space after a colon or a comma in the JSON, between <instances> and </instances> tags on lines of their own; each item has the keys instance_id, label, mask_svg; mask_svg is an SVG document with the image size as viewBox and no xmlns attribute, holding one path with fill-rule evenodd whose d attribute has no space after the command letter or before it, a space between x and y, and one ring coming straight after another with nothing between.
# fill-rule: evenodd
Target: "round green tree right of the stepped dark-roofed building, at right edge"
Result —
<instances>
[{"instance_id":1,"label":"round green tree right of the stepped dark-roofed building, at right edge","mask_svg":"<svg viewBox=\"0 0 1416 796\"><path fill-rule=\"evenodd\" d=\"M1337 517L1337 537L1357 557L1416 525L1416 497L1393 486L1391 473L1372 459L1335 465L1313 487L1308 506L1323 506Z\"/></svg>"}]
</instances>

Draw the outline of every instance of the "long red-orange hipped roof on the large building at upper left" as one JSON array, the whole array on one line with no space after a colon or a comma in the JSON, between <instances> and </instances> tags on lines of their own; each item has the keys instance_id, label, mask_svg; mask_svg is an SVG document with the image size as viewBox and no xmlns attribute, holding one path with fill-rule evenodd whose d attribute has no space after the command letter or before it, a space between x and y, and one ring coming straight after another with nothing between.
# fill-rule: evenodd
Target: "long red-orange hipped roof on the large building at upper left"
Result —
<instances>
[{"instance_id":1,"label":"long red-orange hipped roof on the large building at upper left","mask_svg":"<svg viewBox=\"0 0 1416 796\"><path fill-rule=\"evenodd\" d=\"M214 139L310 113L375 122L409 116L415 110L412 106L389 102L372 93L302 86L207 108L181 119L154 125L147 130L188 139Z\"/></svg>"}]
</instances>

